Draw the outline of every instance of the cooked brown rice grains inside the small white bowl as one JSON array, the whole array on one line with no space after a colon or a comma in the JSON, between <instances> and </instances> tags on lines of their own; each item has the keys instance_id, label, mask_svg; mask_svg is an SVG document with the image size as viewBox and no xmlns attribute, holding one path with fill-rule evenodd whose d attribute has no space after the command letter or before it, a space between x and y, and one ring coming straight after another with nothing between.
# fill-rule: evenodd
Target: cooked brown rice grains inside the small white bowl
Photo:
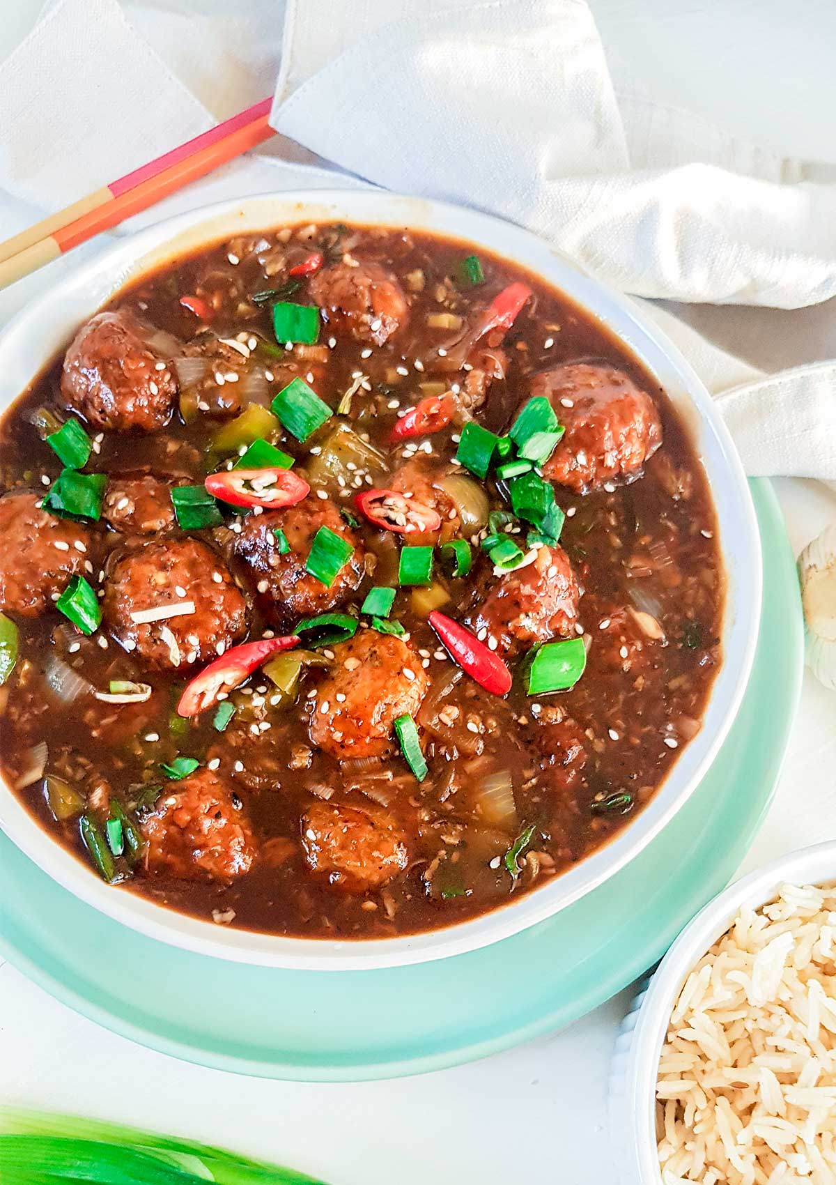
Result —
<instances>
[{"instance_id":1,"label":"cooked brown rice grains inside the small white bowl","mask_svg":"<svg viewBox=\"0 0 836 1185\"><path fill-rule=\"evenodd\" d=\"M658 1069L664 1185L836 1183L836 889L785 884L689 974Z\"/></svg>"}]
</instances>

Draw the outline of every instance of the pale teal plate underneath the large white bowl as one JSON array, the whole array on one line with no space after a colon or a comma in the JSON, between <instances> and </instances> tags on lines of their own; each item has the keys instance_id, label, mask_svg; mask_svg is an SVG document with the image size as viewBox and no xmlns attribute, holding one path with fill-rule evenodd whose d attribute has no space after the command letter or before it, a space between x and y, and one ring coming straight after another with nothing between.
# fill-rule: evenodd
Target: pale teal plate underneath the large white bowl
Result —
<instances>
[{"instance_id":1,"label":"pale teal plate underneath the large white bowl","mask_svg":"<svg viewBox=\"0 0 836 1185\"><path fill-rule=\"evenodd\" d=\"M120 927L0 835L0 950L52 995L124 1037L271 1078L437 1070L577 1020L656 962L724 888L772 798L800 688L802 614L776 497L765 481L753 481L752 494L764 609L738 719L664 831L555 917L483 950L416 967L247 967Z\"/></svg>"}]
</instances>

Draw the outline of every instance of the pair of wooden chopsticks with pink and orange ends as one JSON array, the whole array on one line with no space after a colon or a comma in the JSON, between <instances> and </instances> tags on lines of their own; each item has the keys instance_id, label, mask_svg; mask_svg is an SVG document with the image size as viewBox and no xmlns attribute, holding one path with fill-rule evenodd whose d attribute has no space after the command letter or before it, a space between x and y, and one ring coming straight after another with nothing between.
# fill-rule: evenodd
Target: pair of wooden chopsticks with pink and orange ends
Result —
<instances>
[{"instance_id":1,"label":"pair of wooden chopsticks with pink and orange ends","mask_svg":"<svg viewBox=\"0 0 836 1185\"><path fill-rule=\"evenodd\" d=\"M271 103L271 98L264 98L247 107L231 120L0 243L0 288L268 140L274 135L268 123Z\"/></svg>"}]
</instances>

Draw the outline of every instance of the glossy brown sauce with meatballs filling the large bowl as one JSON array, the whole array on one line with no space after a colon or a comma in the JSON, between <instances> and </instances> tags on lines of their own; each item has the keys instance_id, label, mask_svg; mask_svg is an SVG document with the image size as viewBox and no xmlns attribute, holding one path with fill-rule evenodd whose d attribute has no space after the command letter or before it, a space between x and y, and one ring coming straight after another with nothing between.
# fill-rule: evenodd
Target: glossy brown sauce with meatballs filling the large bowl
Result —
<instances>
[{"instance_id":1,"label":"glossy brown sauce with meatballs filling the large bowl","mask_svg":"<svg viewBox=\"0 0 836 1185\"><path fill-rule=\"evenodd\" d=\"M12 533L0 608L19 629L19 658L1 692L5 776L82 859L90 857L79 816L104 833L118 803L142 846L130 861L116 858L115 891L219 924L306 937L451 924L536 888L605 843L699 731L721 659L724 578L688 434L652 377L560 293L482 250L483 282L463 280L471 251L425 235L329 226L218 244L143 277L110 306L139 319L152 358L139 412L135 398L129 408L123 401L114 422L101 386L91 386L88 344L77 339L72 378L65 372L62 382L59 357L2 421L0 519L5 504ZM320 265L291 276L311 255ZM532 295L510 328L476 337L490 302L513 283ZM276 295L253 302L270 290ZM320 306L315 344L277 345L271 306L282 297ZM114 332L108 348L118 361L133 347L118 325ZM136 369L122 366L120 382L126 374L133 383ZM295 378L335 414L304 442L266 418L257 435L294 457L308 498L263 513L226 506L221 525L181 530L171 489L225 472L244 448L242 412L266 410ZM533 562L502 575L481 543L485 500L490 512L509 510L507 482L495 469L476 478L455 457L468 422L504 434L532 395L548 398L566 424L542 467L566 519L559 543L535 544ZM425 398L450 398L451 422L393 440L399 419ZM584 401L589 415L573 428ZM76 412L95 442L85 472L109 482L107 518L50 524L67 547L58 547L58 571L32 609L22 608L20 585L41 579L43 563L34 576L22 570L41 553L43 524L25 546L14 525L36 514L21 492L40 499L62 469L43 440L41 408ZM435 510L440 529L377 529L355 498L378 487ZM306 570L323 526L353 547L332 584ZM274 555L276 530L289 555ZM504 524L523 552L530 530ZM450 539L471 544L465 577L451 575L440 551ZM433 575L429 588L397 589L388 620L404 633L393 635L374 629L361 606L372 587L397 587L404 543L435 545ZM102 594L104 620L89 638L54 608L71 571ZM181 600L195 604L191 626L186 616L133 622L161 571L171 574L161 577L167 595L182 589ZM507 662L507 696L452 661L427 622L431 609L471 627ZM309 659L291 693L256 671L230 691L234 713L223 731L217 705L178 716L188 679L218 653L265 632L291 633L323 611L353 615L359 628L341 645L303 642ZM178 634L176 665L162 627L188 630ZM532 649L581 636L586 668L574 687L528 694ZM81 691L66 668L84 680ZM95 698L111 680L147 684L150 697ZM393 730L403 715L417 725L423 781ZM178 757L199 766L185 780L167 779L162 766ZM56 777L75 793L63 819L50 806Z\"/></svg>"}]
</instances>

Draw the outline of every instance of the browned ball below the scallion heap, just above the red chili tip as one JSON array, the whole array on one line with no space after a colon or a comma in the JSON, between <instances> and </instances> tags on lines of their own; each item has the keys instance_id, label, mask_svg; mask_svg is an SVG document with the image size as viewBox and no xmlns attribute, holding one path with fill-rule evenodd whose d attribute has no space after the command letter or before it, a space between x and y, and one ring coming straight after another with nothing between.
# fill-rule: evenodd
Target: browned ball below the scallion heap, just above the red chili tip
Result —
<instances>
[{"instance_id":1,"label":"browned ball below the scallion heap, just above the red chili tip","mask_svg":"<svg viewBox=\"0 0 836 1185\"><path fill-rule=\"evenodd\" d=\"M468 624L513 654L574 633L580 588L562 547L540 547L534 563L500 577Z\"/></svg>"}]
</instances>

